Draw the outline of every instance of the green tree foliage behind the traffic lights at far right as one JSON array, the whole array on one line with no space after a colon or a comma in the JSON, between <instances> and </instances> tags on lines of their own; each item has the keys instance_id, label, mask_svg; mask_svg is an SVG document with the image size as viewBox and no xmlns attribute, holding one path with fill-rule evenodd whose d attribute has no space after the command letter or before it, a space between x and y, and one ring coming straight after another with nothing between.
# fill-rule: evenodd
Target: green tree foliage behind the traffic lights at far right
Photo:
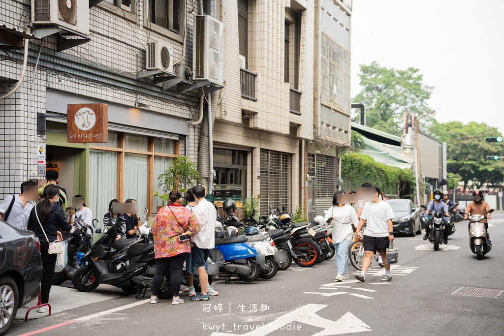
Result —
<instances>
[{"instance_id":1,"label":"green tree foliage behind the traffic lights at far right","mask_svg":"<svg viewBox=\"0 0 504 336\"><path fill-rule=\"evenodd\" d=\"M475 121L450 121L434 122L430 129L440 137L439 141L447 143L447 170L461 176L464 189L469 181L472 188L504 182L504 162L486 160L487 155L504 155L504 143L485 141L486 137L501 136L496 127Z\"/></svg>"}]
</instances>

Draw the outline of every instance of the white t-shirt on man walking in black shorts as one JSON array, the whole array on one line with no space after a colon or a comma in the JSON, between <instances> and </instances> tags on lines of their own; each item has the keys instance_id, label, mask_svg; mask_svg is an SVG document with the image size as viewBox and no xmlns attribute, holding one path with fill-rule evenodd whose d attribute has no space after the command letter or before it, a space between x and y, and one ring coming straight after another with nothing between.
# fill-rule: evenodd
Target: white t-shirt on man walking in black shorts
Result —
<instances>
[{"instance_id":1,"label":"white t-shirt on man walking in black shorts","mask_svg":"<svg viewBox=\"0 0 504 336\"><path fill-rule=\"evenodd\" d=\"M394 218L392 207L386 201L381 200L378 203L367 202L364 208L362 208L362 214L360 214L360 219L367 222L364 235L370 237L388 237L390 231L387 221Z\"/></svg>"}]
</instances>

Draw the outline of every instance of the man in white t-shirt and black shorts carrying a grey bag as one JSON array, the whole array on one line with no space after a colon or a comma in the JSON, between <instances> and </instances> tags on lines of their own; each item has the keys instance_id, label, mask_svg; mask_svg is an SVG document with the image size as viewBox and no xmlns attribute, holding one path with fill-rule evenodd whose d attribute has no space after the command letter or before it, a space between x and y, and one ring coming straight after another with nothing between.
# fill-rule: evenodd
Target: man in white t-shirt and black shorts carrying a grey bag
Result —
<instances>
[{"instance_id":1,"label":"man in white t-shirt and black shorts carrying a grey bag","mask_svg":"<svg viewBox=\"0 0 504 336\"><path fill-rule=\"evenodd\" d=\"M382 256L385 266L385 276L382 278L382 281L392 280L392 276L390 275L390 264L386 262L386 252L389 242L394 240L392 219L394 219L395 216L390 204L380 199L380 194L382 192L380 187L374 186L374 190L374 200L364 205L356 231L357 237L362 237L360 231L362 230L364 222L367 222L366 231L362 239L362 244L364 245L362 272L355 276L355 279L361 282L365 281L367 268L371 264L371 257L376 251Z\"/></svg>"}]
</instances>

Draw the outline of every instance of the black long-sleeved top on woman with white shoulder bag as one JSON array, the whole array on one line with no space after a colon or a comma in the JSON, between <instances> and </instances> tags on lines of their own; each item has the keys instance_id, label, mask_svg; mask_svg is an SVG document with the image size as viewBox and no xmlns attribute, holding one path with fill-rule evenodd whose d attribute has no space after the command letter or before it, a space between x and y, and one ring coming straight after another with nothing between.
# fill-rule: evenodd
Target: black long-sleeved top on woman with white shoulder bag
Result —
<instances>
[{"instance_id":1,"label":"black long-sleeved top on woman with white shoulder bag","mask_svg":"<svg viewBox=\"0 0 504 336\"><path fill-rule=\"evenodd\" d=\"M42 229L38 224L35 211L38 214L40 223L44 227L45 234L47 235L49 241L45 239L44 233L42 232ZM53 242L57 240L56 231L70 231L70 229L72 229L72 225L68 224L63 209L61 209L61 207L54 202L52 204L51 213L49 214L49 221L47 222L44 222L40 216L40 205L37 204L35 207L33 207L30 213L30 217L28 217L27 229L35 232L35 235L38 237L38 239L40 239L41 242Z\"/></svg>"}]
</instances>

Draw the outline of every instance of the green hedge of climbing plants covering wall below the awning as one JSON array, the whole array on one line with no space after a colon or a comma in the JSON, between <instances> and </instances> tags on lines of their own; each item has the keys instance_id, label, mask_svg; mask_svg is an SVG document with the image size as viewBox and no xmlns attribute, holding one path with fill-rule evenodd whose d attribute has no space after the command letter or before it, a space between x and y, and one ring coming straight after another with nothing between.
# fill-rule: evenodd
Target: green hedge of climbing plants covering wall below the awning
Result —
<instances>
[{"instance_id":1,"label":"green hedge of climbing plants covering wall below the awning","mask_svg":"<svg viewBox=\"0 0 504 336\"><path fill-rule=\"evenodd\" d=\"M341 156L343 190L355 190L362 182L378 185L384 193L401 198L413 197L415 174L411 169L401 169L376 162L365 154L345 153Z\"/></svg>"}]
</instances>

